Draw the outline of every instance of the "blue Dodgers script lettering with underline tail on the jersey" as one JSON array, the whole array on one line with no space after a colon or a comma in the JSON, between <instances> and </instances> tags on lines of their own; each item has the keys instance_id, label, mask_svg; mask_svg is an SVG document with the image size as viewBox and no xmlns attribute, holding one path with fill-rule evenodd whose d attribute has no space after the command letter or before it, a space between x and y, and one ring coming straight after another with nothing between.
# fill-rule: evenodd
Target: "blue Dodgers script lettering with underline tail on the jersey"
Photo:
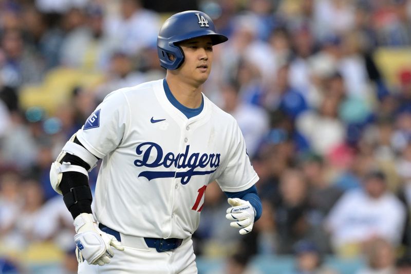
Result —
<instances>
[{"instance_id":1,"label":"blue Dodgers script lettering with underline tail on the jersey","mask_svg":"<svg viewBox=\"0 0 411 274\"><path fill-rule=\"evenodd\" d=\"M160 145L154 142L141 143L136 148L137 155L143 155L143 158L134 161L136 167L147 167L147 168L157 168L165 167L170 168L174 166L175 168L190 168L188 171L184 172L174 172L174 171L143 171L138 177L145 177L149 181L156 178L181 178L181 184L187 184L192 176L196 175L206 175L215 172L220 165L220 154L212 153L192 153L189 154L190 145L186 145L185 152L174 155L174 153L169 152L164 155L163 150ZM155 159L150 160L150 155L155 155ZM150 160L150 162L149 162ZM201 170L206 167L210 167L211 170ZM197 170L196 170L197 169Z\"/></svg>"}]
</instances>

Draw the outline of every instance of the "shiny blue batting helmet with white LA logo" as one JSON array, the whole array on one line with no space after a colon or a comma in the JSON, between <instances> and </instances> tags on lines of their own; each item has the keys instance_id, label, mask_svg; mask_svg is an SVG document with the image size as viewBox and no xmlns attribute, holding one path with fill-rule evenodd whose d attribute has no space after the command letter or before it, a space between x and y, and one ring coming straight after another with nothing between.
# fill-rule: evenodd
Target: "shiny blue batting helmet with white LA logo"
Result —
<instances>
[{"instance_id":1,"label":"shiny blue batting helmet with white LA logo","mask_svg":"<svg viewBox=\"0 0 411 274\"><path fill-rule=\"evenodd\" d=\"M228 40L215 32L213 21L204 12L189 10L172 15L164 22L157 36L160 65L166 69L177 69L184 61L184 53L176 43L199 36L210 36L213 45ZM174 60L168 54L172 54Z\"/></svg>"}]
</instances>

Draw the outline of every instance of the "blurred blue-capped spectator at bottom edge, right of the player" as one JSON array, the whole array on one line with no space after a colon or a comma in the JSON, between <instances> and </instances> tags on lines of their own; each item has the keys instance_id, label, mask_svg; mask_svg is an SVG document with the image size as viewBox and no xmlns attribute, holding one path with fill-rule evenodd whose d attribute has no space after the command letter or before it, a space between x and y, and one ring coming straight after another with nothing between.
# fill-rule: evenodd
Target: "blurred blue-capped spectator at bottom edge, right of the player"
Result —
<instances>
[{"instance_id":1,"label":"blurred blue-capped spectator at bottom edge, right of the player","mask_svg":"<svg viewBox=\"0 0 411 274\"><path fill-rule=\"evenodd\" d=\"M296 255L295 270L288 274L337 274L333 269L326 267L323 255L314 243L300 241L294 247Z\"/></svg>"}]
</instances>

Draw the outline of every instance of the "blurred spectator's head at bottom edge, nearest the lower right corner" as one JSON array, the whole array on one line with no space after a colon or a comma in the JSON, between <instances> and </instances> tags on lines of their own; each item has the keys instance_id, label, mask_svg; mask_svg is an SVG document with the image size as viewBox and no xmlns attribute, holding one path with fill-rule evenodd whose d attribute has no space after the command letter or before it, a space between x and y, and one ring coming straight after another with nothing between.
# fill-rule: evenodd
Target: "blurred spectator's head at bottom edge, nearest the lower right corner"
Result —
<instances>
[{"instance_id":1,"label":"blurred spectator's head at bottom edge, nearest the lower right corner","mask_svg":"<svg viewBox=\"0 0 411 274\"><path fill-rule=\"evenodd\" d=\"M376 238L366 243L364 253L367 266L356 274L394 274L395 251L386 240Z\"/></svg>"}]
</instances>

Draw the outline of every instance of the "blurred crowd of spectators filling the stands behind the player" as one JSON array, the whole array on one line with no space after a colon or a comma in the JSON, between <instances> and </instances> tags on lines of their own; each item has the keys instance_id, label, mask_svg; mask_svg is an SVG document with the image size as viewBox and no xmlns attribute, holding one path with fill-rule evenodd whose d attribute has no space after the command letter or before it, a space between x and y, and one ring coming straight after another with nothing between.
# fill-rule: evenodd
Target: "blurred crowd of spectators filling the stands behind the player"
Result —
<instances>
[{"instance_id":1,"label":"blurred crowd of spectators filling the stands behind the player","mask_svg":"<svg viewBox=\"0 0 411 274\"><path fill-rule=\"evenodd\" d=\"M255 255L295 255L295 274L338 273L329 255L363 258L359 274L410 273L411 1L195 3L229 37L204 94L237 119L264 208L241 236L212 183L196 254L227 258L225 273L258 273ZM178 11L0 0L0 273L76 272L50 164L108 93L165 76L157 33Z\"/></svg>"}]
</instances>

